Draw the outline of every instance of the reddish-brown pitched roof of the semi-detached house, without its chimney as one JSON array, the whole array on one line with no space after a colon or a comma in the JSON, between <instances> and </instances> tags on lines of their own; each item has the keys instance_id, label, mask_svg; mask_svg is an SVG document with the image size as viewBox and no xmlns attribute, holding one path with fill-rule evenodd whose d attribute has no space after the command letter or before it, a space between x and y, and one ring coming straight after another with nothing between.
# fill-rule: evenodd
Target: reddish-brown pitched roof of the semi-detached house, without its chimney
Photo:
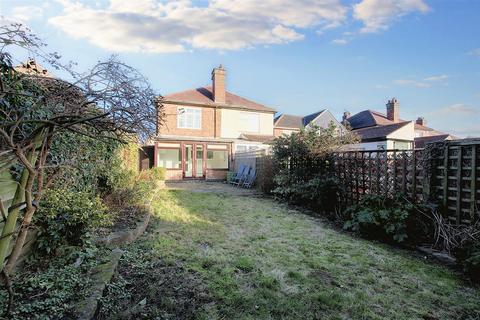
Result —
<instances>
[{"instance_id":1,"label":"reddish-brown pitched roof of the semi-detached house, without its chimney","mask_svg":"<svg viewBox=\"0 0 480 320\"><path fill-rule=\"evenodd\" d=\"M253 111L275 112L274 109L248 100L246 98L237 96L236 94L225 92L225 104L222 106L231 106L237 108L244 108ZM182 92L172 93L163 97L163 101L171 102L193 102L209 106L218 106L213 100L212 86L205 86L196 89L190 89Z\"/></svg>"}]
</instances>

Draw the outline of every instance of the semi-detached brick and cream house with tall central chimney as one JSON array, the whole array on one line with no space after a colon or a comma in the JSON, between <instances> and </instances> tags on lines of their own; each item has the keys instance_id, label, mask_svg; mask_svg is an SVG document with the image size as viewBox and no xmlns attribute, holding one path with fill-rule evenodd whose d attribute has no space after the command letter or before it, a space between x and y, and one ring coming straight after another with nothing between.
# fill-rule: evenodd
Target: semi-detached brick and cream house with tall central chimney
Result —
<instances>
[{"instance_id":1,"label":"semi-detached brick and cream house with tall central chimney","mask_svg":"<svg viewBox=\"0 0 480 320\"><path fill-rule=\"evenodd\" d=\"M159 99L163 123L150 151L144 149L167 179L224 179L237 152L269 148L275 110L226 91L225 80L220 65L212 85Z\"/></svg>"}]
</instances>

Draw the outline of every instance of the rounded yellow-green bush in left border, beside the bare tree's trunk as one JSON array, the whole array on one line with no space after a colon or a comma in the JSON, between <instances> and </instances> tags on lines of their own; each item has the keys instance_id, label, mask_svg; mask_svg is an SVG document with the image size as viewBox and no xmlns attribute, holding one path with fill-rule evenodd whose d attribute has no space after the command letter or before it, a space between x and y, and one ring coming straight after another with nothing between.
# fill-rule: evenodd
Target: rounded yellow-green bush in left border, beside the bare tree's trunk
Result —
<instances>
[{"instance_id":1,"label":"rounded yellow-green bush in left border, beside the bare tree's trunk","mask_svg":"<svg viewBox=\"0 0 480 320\"><path fill-rule=\"evenodd\" d=\"M89 231L110 223L105 210L101 199L89 192L47 191L35 215L38 249L49 254L62 245L83 244Z\"/></svg>"}]
</instances>

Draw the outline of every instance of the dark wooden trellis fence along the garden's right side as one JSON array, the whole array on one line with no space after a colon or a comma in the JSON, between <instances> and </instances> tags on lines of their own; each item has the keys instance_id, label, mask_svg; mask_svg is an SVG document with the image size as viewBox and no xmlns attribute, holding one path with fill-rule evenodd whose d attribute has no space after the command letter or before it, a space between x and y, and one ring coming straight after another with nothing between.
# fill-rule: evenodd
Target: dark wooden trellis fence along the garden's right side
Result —
<instances>
[{"instance_id":1,"label":"dark wooden trellis fence along the garden's right side","mask_svg":"<svg viewBox=\"0 0 480 320\"><path fill-rule=\"evenodd\" d=\"M345 186L347 204L368 194L391 197L403 193L415 202L440 204L453 223L478 218L478 140L431 144L420 150L338 152L334 165Z\"/></svg>"}]
</instances>

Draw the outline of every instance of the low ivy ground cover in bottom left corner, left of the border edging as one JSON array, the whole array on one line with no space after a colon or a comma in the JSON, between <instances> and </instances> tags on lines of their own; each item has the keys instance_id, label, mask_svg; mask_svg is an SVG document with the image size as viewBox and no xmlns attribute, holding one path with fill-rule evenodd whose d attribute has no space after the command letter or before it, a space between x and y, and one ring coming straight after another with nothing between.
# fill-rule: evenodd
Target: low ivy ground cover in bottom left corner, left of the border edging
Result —
<instances>
[{"instance_id":1,"label":"low ivy ground cover in bottom left corner, left of the border edging","mask_svg":"<svg viewBox=\"0 0 480 320\"><path fill-rule=\"evenodd\" d=\"M72 248L44 260L30 259L20 273L13 277L16 301L9 320L20 319L74 319L73 308L91 286L86 273L104 256L95 247ZM79 263L81 262L81 263ZM0 301L7 301L5 290L0 290ZM3 307L0 304L0 314ZM4 319L0 316L0 319Z\"/></svg>"}]
</instances>

